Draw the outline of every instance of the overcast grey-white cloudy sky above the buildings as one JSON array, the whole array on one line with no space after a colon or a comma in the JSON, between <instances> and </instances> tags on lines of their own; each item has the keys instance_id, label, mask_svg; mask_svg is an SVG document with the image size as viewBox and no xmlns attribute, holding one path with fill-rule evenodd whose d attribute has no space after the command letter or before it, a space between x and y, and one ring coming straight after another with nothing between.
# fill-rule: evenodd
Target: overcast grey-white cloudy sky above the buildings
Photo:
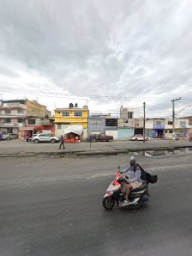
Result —
<instances>
[{"instance_id":1,"label":"overcast grey-white cloudy sky above the buildings","mask_svg":"<svg viewBox=\"0 0 192 256\"><path fill-rule=\"evenodd\" d=\"M0 97L192 114L190 0L0 0Z\"/></svg>"}]
</instances>

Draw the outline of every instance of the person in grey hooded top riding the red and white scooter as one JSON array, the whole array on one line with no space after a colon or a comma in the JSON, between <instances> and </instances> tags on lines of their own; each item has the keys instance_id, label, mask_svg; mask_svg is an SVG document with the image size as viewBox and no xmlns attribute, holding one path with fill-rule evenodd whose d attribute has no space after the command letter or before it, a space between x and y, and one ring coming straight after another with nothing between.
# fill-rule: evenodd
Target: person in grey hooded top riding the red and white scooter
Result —
<instances>
[{"instance_id":1,"label":"person in grey hooded top riding the red and white scooter","mask_svg":"<svg viewBox=\"0 0 192 256\"><path fill-rule=\"evenodd\" d=\"M130 166L129 168L126 168L120 174L125 174L125 177L128 176L129 180L125 178L121 182L121 191L125 192L125 201L124 203L129 202L129 193L131 189L138 188L142 185L142 180L141 180L141 169L139 166L136 165L136 160L135 156L130 157Z\"/></svg>"}]
</instances>

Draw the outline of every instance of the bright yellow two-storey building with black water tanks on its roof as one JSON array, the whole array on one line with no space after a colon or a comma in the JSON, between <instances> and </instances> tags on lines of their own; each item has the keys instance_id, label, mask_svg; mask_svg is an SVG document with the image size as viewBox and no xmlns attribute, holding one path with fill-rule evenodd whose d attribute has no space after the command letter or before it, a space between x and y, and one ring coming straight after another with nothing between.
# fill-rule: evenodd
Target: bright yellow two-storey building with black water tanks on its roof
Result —
<instances>
[{"instance_id":1,"label":"bright yellow two-storey building with black water tanks on its roof","mask_svg":"<svg viewBox=\"0 0 192 256\"><path fill-rule=\"evenodd\" d=\"M83 137L87 137L88 127L88 107L79 108L77 104L75 107L72 103L68 108L57 108L55 110L55 133L60 136L64 133L64 129L69 125L82 125L84 128Z\"/></svg>"}]
</instances>

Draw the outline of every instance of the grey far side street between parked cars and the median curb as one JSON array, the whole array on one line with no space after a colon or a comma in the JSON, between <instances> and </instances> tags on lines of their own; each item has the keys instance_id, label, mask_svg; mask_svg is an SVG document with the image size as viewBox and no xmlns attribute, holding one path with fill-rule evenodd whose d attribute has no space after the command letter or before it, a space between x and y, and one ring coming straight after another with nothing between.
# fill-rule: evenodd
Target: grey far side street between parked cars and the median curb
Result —
<instances>
[{"instance_id":1,"label":"grey far side street between parked cars and the median curb","mask_svg":"<svg viewBox=\"0 0 192 256\"><path fill-rule=\"evenodd\" d=\"M27 152L60 152L58 149L59 143L26 143L20 140L0 141L1 154L25 154ZM192 146L189 141L169 141L163 139L151 139L143 143L142 141L113 141L112 143L66 143L64 151L93 151L93 150L112 150L112 149L138 149L145 147L166 147L166 146Z\"/></svg>"}]
</instances>

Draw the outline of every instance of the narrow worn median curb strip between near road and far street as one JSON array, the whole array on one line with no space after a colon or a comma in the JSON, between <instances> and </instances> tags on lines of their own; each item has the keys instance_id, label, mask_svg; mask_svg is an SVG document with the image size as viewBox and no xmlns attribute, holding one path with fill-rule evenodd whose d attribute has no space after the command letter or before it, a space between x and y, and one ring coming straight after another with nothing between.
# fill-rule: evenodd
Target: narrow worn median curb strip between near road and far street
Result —
<instances>
[{"instance_id":1,"label":"narrow worn median curb strip between near road and far street","mask_svg":"<svg viewBox=\"0 0 192 256\"><path fill-rule=\"evenodd\" d=\"M19 152L16 154L0 154L0 158L3 157L34 157L39 155L45 155L45 156L60 156L63 157L63 155L68 156L88 156L88 155L118 155L118 154L129 154L129 152L141 152L141 151L164 151L164 150L175 150L175 149L192 149L191 146L164 146L164 147L146 147L146 148L129 148L129 149L112 149L112 150L95 150L95 151L54 151L54 152Z\"/></svg>"}]
</instances>

